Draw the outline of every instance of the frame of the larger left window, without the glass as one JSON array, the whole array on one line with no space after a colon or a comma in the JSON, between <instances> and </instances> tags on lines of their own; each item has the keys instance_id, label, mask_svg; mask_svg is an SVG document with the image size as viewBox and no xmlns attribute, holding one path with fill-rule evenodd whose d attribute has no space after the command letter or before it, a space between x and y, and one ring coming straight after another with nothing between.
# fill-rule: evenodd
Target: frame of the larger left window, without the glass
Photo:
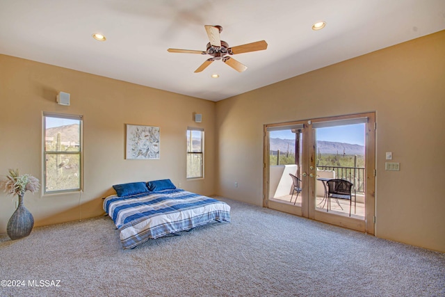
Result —
<instances>
[{"instance_id":1,"label":"frame of the larger left window, without the glass","mask_svg":"<svg viewBox=\"0 0 445 297\"><path fill-rule=\"evenodd\" d=\"M47 136L47 118L62 118L67 120L79 120L79 151L78 152L58 152L47 151L46 136ZM59 193L77 193L83 191L83 115L69 115L65 113L49 113L43 112L42 116L42 195L53 195ZM79 156L79 187L67 188L63 190L47 191L47 156L57 155L78 155Z\"/></svg>"}]
</instances>

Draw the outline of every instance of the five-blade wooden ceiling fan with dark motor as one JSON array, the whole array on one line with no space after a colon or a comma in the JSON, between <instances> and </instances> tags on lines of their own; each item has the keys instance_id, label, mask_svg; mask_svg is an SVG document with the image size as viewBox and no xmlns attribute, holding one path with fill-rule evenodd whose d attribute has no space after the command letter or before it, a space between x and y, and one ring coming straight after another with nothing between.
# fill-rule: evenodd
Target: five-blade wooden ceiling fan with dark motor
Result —
<instances>
[{"instance_id":1,"label":"five-blade wooden ceiling fan with dark motor","mask_svg":"<svg viewBox=\"0 0 445 297\"><path fill-rule=\"evenodd\" d=\"M209 54L213 58L207 59L200 67L197 67L196 72L202 72L202 70L206 69L213 61L215 60L223 60L224 63L232 67L234 70L238 72L245 71L248 67L239 63L234 58L227 56L233 54L243 54L248 53L249 51L262 51L267 49L267 43L264 40L248 43L245 45L238 45L236 47L229 47L227 42L220 40L220 33L223 31L222 26L210 26L206 25L204 28L207 31L207 35L209 36L210 42L207 43L206 51L195 51L193 49L167 49L170 53L185 53L185 54Z\"/></svg>"}]
</instances>

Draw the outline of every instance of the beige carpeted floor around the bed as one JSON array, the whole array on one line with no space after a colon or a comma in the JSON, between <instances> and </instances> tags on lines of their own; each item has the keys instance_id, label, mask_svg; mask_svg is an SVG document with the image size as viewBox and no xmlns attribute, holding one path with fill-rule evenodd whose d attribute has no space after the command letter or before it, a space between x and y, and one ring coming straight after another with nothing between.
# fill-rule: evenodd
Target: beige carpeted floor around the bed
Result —
<instances>
[{"instance_id":1,"label":"beige carpeted floor around the bed","mask_svg":"<svg viewBox=\"0 0 445 297\"><path fill-rule=\"evenodd\" d=\"M445 296L443 253L218 199L232 223L133 250L108 217L0 234L0 296Z\"/></svg>"}]
</instances>

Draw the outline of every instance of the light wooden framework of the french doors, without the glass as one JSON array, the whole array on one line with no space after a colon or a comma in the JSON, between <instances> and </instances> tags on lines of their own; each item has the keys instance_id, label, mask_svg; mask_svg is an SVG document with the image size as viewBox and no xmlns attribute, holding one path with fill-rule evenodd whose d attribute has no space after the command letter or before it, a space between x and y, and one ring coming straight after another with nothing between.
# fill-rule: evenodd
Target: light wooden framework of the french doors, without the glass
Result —
<instances>
[{"instance_id":1,"label":"light wooden framework of the french doors, without the glass","mask_svg":"<svg viewBox=\"0 0 445 297\"><path fill-rule=\"evenodd\" d=\"M316 163L316 147L315 147L315 129L312 129L312 124L315 122L330 122L335 120L348 120L353 118L367 118L367 122L365 125L365 216L364 220L360 220L357 218L336 216L323 211L316 211L316 200L315 200L315 177L309 177L310 166L315 168ZM303 129L303 147L302 150L302 159L307 158L309 160L307 162L302 162L305 168L301 168L301 172L307 172L307 177L302 177L303 183L308 186L303 186L302 193L307 200L302 200L301 207L294 207L293 205L283 204L280 202L275 202L269 200L269 174L270 174L270 164L269 164L269 136L268 136L268 128L270 127L285 127L291 125L304 124L305 128ZM276 209L279 211L284 211L290 214L295 214L297 216L304 216L306 218L311 218L314 220L319 220L325 223L330 223L333 225L339 225L341 227L346 227L353 230L358 230L365 232L366 234L375 234L375 112L368 113L356 113L350 115L339 115L339 116L330 116L325 118L313 118L309 120L298 120L293 122L282 122L264 125L264 158L263 158L263 205L264 207ZM311 139L310 141L309 138ZM312 147L310 147L312 145ZM312 172L314 173L314 172ZM310 192L309 192L310 191Z\"/></svg>"}]
</instances>

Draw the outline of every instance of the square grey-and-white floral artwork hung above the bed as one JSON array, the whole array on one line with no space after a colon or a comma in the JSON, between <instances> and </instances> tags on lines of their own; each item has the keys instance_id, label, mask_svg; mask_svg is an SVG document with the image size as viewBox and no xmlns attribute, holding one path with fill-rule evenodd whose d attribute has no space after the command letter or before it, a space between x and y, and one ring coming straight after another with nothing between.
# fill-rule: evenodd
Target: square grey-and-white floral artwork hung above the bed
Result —
<instances>
[{"instance_id":1,"label":"square grey-and-white floral artwork hung above the bed","mask_svg":"<svg viewBox=\"0 0 445 297\"><path fill-rule=\"evenodd\" d=\"M127 159L159 159L159 127L127 125Z\"/></svg>"}]
</instances>

